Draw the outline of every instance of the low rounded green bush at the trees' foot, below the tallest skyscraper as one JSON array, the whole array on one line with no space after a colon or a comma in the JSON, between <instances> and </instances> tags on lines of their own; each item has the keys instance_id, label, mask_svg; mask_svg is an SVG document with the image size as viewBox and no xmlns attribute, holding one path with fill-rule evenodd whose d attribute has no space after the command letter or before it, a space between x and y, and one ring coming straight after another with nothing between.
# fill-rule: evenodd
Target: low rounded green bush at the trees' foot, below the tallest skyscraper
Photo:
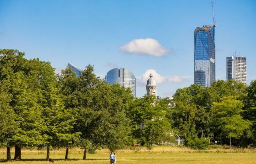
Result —
<instances>
[{"instance_id":1,"label":"low rounded green bush at the trees' foot, below the tallest skyscraper","mask_svg":"<svg viewBox=\"0 0 256 164\"><path fill-rule=\"evenodd\" d=\"M210 148L210 141L208 138L195 138L195 139L188 139L187 143L188 147L193 149L199 149L199 150L207 150Z\"/></svg>"}]
</instances>

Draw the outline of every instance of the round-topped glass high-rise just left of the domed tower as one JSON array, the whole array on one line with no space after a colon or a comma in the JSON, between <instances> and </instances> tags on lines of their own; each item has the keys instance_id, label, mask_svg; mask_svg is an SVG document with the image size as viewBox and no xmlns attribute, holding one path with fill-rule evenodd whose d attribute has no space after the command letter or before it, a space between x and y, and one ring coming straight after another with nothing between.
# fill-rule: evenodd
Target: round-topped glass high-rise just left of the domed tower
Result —
<instances>
[{"instance_id":1,"label":"round-topped glass high-rise just left of the domed tower","mask_svg":"<svg viewBox=\"0 0 256 164\"><path fill-rule=\"evenodd\" d=\"M125 68L114 68L105 76L105 81L107 84L120 84L120 86L124 86L125 88L130 88L132 90L132 95L136 96L136 79L131 71Z\"/></svg>"}]
</instances>

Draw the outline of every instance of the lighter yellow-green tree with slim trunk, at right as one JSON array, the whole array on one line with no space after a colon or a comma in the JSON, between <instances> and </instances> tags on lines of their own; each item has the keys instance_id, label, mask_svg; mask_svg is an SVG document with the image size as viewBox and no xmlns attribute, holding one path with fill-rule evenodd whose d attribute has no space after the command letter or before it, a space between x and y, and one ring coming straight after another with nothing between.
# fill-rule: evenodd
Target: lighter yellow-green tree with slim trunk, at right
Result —
<instances>
[{"instance_id":1,"label":"lighter yellow-green tree with slim trunk, at right","mask_svg":"<svg viewBox=\"0 0 256 164\"><path fill-rule=\"evenodd\" d=\"M248 129L251 122L244 120L240 115L243 104L242 101L234 99L233 96L221 98L221 102L214 102L212 113L215 130L220 131L220 137L229 137L231 150L231 138L240 137L245 129Z\"/></svg>"}]
</instances>

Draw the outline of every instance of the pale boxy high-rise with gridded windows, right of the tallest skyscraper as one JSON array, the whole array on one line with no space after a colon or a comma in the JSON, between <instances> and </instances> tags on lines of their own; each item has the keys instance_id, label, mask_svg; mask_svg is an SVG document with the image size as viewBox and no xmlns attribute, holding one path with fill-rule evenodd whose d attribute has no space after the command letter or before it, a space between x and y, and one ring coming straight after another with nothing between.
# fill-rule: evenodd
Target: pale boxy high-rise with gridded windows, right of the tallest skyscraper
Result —
<instances>
[{"instance_id":1,"label":"pale boxy high-rise with gridded windows, right of the tallest skyscraper","mask_svg":"<svg viewBox=\"0 0 256 164\"><path fill-rule=\"evenodd\" d=\"M226 79L234 78L237 82L246 85L246 58L231 56L226 57Z\"/></svg>"}]
</instances>

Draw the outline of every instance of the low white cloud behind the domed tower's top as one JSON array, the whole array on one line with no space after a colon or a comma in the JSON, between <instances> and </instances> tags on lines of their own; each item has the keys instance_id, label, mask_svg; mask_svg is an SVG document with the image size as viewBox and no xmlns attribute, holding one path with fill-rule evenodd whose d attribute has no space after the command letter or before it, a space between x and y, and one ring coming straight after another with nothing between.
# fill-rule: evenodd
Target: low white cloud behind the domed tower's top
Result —
<instances>
[{"instance_id":1,"label":"low white cloud behind the domed tower's top","mask_svg":"<svg viewBox=\"0 0 256 164\"><path fill-rule=\"evenodd\" d=\"M138 80L139 85L141 86L146 86L147 80L149 78L149 74L152 73L153 78L155 79L155 82L158 84L163 83L163 82L170 82L170 83L181 83L183 81L185 81L185 79L183 79L182 77L178 76L178 75L174 75L172 77L165 77L160 75L159 73L157 73L156 70L146 70L145 73L142 75L141 79ZM138 78L137 78L138 79Z\"/></svg>"}]
</instances>

